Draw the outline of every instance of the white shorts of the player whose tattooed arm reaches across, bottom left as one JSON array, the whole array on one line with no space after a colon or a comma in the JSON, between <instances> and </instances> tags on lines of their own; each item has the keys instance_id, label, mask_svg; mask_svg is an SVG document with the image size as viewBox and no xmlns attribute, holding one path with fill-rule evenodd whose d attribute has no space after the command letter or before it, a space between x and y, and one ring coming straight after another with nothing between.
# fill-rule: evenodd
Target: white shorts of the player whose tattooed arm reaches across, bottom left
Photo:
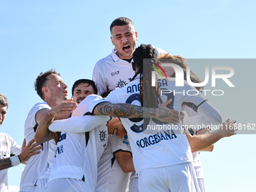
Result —
<instances>
[{"instance_id":1,"label":"white shorts of the player whose tattooed arm reaches across, bottom left","mask_svg":"<svg viewBox=\"0 0 256 192\"><path fill-rule=\"evenodd\" d=\"M76 178L56 178L48 182L47 192L93 192L84 181Z\"/></svg>"}]
</instances>

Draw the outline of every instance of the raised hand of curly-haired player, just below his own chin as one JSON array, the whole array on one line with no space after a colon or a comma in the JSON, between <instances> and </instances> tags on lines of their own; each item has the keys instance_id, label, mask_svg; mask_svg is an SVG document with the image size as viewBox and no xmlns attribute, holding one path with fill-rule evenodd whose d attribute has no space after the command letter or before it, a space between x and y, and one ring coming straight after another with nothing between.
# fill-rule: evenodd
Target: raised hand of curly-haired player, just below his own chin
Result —
<instances>
[{"instance_id":1,"label":"raised hand of curly-haired player, just below his own chin","mask_svg":"<svg viewBox=\"0 0 256 192\"><path fill-rule=\"evenodd\" d=\"M56 107L51 108L49 114L53 117L61 117L64 114L69 115L77 107L78 103L73 102L72 99L68 99L59 105L56 105Z\"/></svg>"}]
</instances>

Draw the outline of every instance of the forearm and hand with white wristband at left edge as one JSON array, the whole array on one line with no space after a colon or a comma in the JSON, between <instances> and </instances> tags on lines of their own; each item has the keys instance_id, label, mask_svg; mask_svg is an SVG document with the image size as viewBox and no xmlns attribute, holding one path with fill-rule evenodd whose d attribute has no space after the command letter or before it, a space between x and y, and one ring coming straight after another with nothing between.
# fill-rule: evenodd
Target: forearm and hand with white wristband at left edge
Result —
<instances>
[{"instance_id":1,"label":"forearm and hand with white wristband at left edge","mask_svg":"<svg viewBox=\"0 0 256 192\"><path fill-rule=\"evenodd\" d=\"M20 163L26 163L26 161L29 160L32 155L40 154L40 151L38 150L40 150L42 147L37 147L40 145L38 143L32 145L33 142L35 142L35 139L32 139L26 146L26 140L24 139L23 147L21 148L19 155L0 160L0 171L8 169L12 166L18 166Z\"/></svg>"}]
</instances>

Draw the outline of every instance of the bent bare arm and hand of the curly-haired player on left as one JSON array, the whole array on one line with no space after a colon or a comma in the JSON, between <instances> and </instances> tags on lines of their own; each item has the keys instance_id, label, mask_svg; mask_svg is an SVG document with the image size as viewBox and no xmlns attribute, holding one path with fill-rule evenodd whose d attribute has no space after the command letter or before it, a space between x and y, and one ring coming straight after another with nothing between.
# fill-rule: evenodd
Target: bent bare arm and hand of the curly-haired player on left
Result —
<instances>
[{"instance_id":1,"label":"bent bare arm and hand of the curly-haired player on left","mask_svg":"<svg viewBox=\"0 0 256 192\"><path fill-rule=\"evenodd\" d=\"M54 108L43 109L38 111L36 116L36 121L38 122L38 128L35 132L35 142L44 143L53 139L54 134L50 133L48 130L48 126L53 120L63 119L68 117L68 115L74 110L78 104L76 102L72 102L72 99L67 100L66 102L62 102ZM56 139L56 138L54 138Z\"/></svg>"}]
</instances>

